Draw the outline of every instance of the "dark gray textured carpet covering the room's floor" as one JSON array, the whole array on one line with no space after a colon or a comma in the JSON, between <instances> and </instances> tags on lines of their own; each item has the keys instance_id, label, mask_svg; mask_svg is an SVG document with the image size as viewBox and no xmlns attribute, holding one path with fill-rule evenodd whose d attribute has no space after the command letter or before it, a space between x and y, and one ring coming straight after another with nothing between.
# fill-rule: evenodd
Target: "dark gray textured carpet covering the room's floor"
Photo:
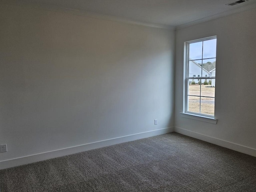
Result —
<instances>
[{"instance_id":1,"label":"dark gray textured carpet covering the room's floor","mask_svg":"<svg viewBox=\"0 0 256 192\"><path fill-rule=\"evenodd\" d=\"M0 170L1 192L256 192L256 158L178 133Z\"/></svg>"}]
</instances>

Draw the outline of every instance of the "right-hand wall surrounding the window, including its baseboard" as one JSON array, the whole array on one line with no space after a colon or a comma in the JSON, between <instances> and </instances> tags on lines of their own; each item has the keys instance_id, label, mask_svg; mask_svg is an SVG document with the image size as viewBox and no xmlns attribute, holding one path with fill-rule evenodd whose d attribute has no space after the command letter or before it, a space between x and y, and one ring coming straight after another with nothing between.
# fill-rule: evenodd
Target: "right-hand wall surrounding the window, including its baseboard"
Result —
<instances>
[{"instance_id":1,"label":"right-hand wall surrounding the window, including its baseboard","mask_svg":"<svg viewBox=\"0 0 256 192\"><path fill-rule=\"evenodd\" d=\"M256 156L256 9L176 31L175 131ZM217 35L217 124L181 117L184 42Z\"/></svg>"}]
</instances>

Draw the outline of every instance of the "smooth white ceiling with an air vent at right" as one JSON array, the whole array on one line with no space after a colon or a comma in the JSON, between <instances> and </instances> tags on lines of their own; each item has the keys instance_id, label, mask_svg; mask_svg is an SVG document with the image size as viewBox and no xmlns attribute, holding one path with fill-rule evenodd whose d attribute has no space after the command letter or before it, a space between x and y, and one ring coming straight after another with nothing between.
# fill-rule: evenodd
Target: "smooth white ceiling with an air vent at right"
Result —
<instances>
[{"instance_id":1,"label":"smooth white ceiling with an air vent at right","mask_svg":"<svg viewBox=\"0 0 256 192\"><path fill-rule=\"evenodd\" d=\"M182 26L200 20L210 20L235 12L256 8L256 0L234 6L225 4L237 0L22 0L115 16L132 21Z\"/></svg>"}]
</instances>

